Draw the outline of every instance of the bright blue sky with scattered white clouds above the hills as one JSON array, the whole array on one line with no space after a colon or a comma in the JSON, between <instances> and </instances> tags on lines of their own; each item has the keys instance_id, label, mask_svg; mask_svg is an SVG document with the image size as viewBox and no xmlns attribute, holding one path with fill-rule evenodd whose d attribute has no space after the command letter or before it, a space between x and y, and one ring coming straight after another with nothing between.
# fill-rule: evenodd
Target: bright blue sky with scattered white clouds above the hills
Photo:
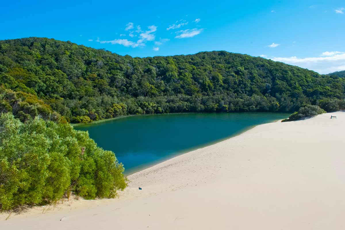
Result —
<instances>
[{"instance_id":1,"label":"bright blue sky with scattered white clouds above the hills","mask_svg":"<svg viewBox=\"0 0 345 230\"><path fill-rule=\"evenodd\" d=\"M342 1L6 1L0 39L48 37L133 57L226 50L345 70Z\"/></svg>"}]
</instances>

